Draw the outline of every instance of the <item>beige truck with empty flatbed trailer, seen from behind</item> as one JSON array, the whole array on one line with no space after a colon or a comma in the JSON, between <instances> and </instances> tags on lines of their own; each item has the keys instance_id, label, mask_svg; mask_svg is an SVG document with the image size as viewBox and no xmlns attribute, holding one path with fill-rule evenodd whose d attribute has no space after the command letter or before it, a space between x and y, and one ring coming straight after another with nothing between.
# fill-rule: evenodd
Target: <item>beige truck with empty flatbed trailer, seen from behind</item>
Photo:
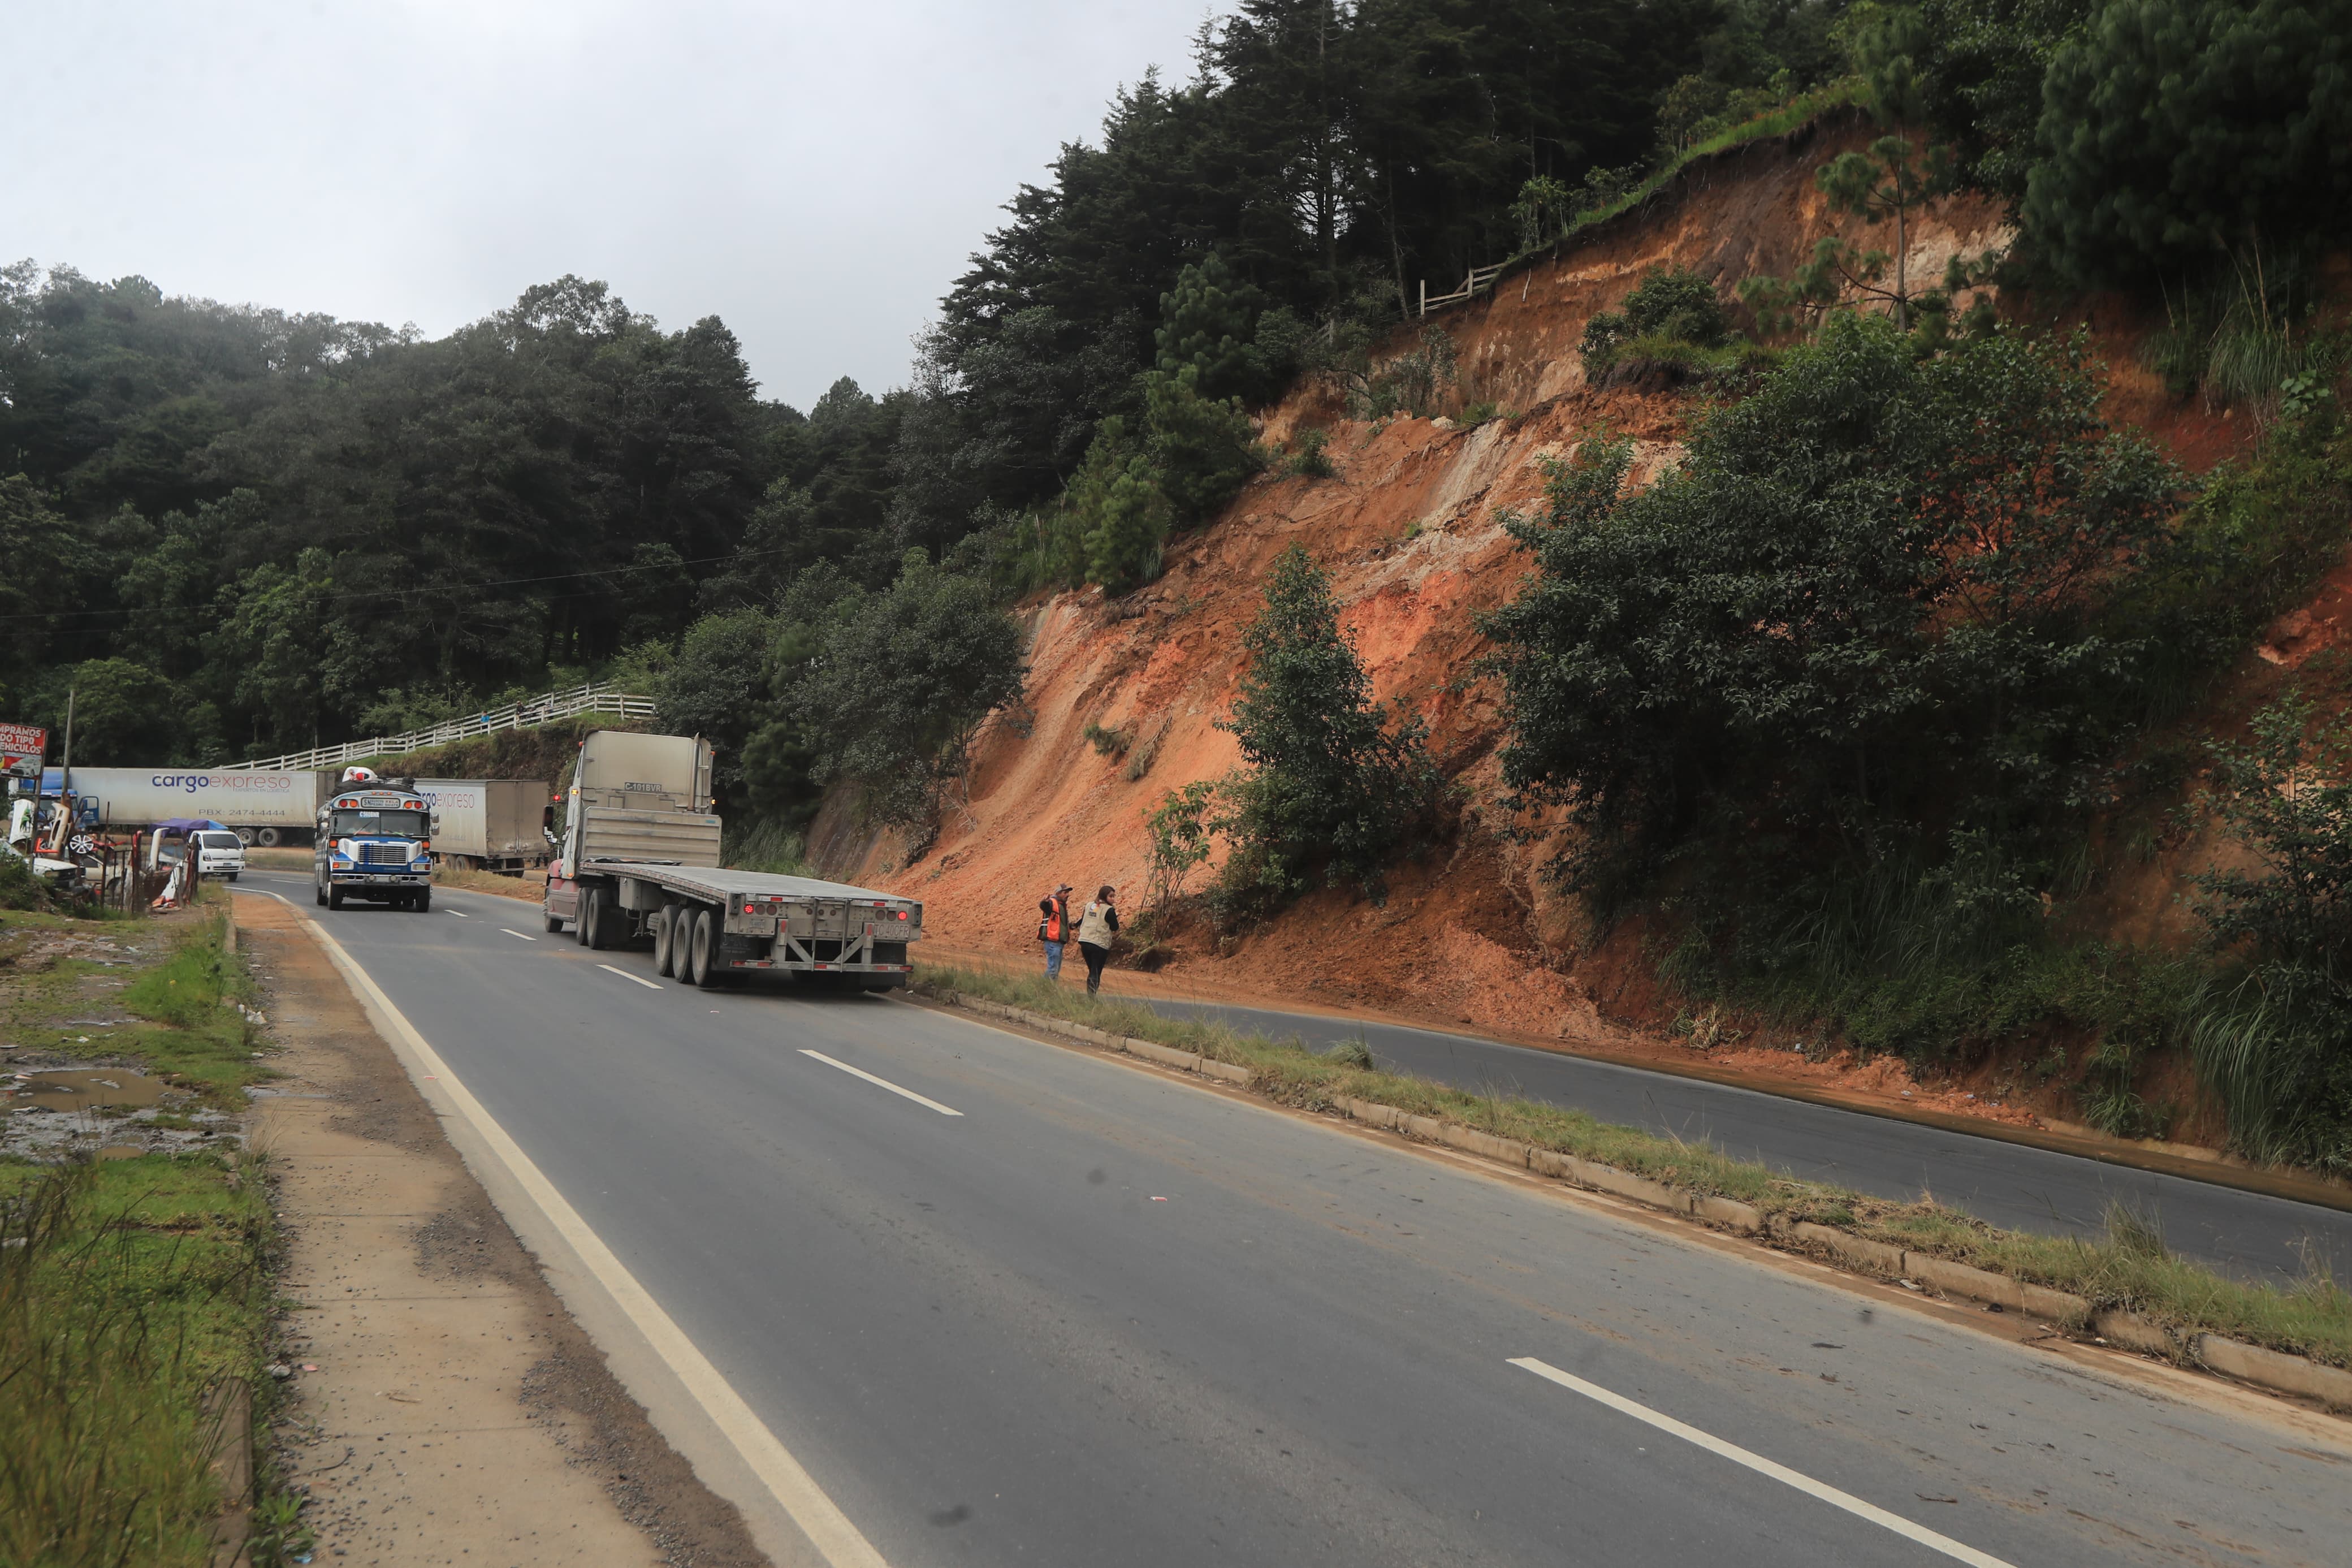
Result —
<instances>
[{"instance_id":1,"label":"beige truck with empty flatbed trailer, seen from behind","mask_svg":"<svg viewBox=\"0 0 2352 1568\"><path fill-rule=\"evenodd\" d=\"M802 983L908 983L922 903L816 877L720 865L710 743L600 729L581 741L564 830L548 835L546 929L583 947L654 943L654 969L687 985L781 971Z\"/></svg>"}]
</instances>

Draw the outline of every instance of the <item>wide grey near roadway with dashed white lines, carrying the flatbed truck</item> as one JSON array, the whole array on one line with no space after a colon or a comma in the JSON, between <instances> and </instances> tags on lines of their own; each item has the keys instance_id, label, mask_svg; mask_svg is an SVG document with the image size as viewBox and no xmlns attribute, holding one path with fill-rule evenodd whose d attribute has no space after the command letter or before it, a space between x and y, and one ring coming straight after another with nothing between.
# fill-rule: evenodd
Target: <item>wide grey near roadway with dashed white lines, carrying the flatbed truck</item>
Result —
<instances>
[{"instance_id":1,"label":"wide grey near roadway with dashed white lines, carrying the flatbed truck","mask_svg":"<svg viewBox=\"0 0 2352 1568\"><path fill-rule=\"evenodd\" d=\"M896 999L247 879L896 1568L2345 1561L2345 1425Z\"/></svg>"}]
</instances>

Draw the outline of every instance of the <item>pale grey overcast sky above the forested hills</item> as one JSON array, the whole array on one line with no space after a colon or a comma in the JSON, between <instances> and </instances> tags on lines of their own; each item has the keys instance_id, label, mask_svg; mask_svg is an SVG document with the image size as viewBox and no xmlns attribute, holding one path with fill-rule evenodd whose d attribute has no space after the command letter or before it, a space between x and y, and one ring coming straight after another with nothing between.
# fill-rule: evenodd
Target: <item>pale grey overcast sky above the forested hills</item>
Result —
<instances>
[{"instance_id":1,"label":"pale grey overcast sky above the forested hills","mask_svg":"<svg viewBox=\"0 0 2352 1568\"><path fill-rule=\"evenodd\" d=\"M762 395L901 386L997 207L1204 0L12 5L0 261L442 334L564 273Z\"/></svg>"}]
</instances>

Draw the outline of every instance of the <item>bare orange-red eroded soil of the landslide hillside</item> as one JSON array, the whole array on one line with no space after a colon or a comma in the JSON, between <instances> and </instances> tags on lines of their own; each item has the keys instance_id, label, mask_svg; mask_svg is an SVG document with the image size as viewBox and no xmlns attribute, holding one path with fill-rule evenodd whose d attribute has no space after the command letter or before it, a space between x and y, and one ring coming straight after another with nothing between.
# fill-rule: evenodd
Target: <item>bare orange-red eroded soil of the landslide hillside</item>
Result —
<instances>
[{"instance_id":1,"label":"bare orange-red eroded soil of the landslide hillside","mask_svg":"<svg viewBox=\"0 0 2352 1568\"><path fill-rule=\"evenodd\" d=\"M1475 428L1451 418L1374 425L1345 418L1327 388L1294 390L1265 411L1265 440L1287 444L1301 428L1327 428L1334 477L1261 475L1211 527L1171 541L1167 574L1127 599L1089 588L1023 607L1033 635L1025 712L997 715L983 731L969 806L950 811L936 844L908 865L896 839L858 832L849 804L833 802L811 856L828 875L922 896L936 954L1030 957L1037 898L1054 882L1082 891L1110 882L1134 900L1145 811L1167 790L1218 778L1237 762L1216 724L1242 670L1240 635L1261 609L1268 564L1298 543L1331 571L1378 698L1428 722L1432 750L1468 802L1463 830L1439 858L1402 867L1381 907L1324 893L1244 938L1178 931L1160 980L1529 1041L1686 1056L1682 1037L1656 1027L1675 1006L1651 978L1642 933L1618 931L1578 957L1573 910L1548 891L1526 849L1494 832L1503 736L1496 689L1477 675L1486 644L1475 621L1508 599L1526 569L1503 517L1541 498L1548 458L1606 425L1635 437L1637 482L1677 461L1691 404L1670 393L1590 388L1576 355L1585 322L1651 266L1691 266L1726 289L1750 273L1790 270L1820 233L1842 226L1813 188L1813 169L1870 134L1865 122L1842 120L1696 167L1646 209L1510 273L1494 296L1432 317L1458 346L1454 409L1496 402L1515 416ZM1860 237L1858 228L1846 233ZM1884 242L1886 233L1867 237ZM1994 202L1947 197L1915 223L1910 266L1940 275L1950 254L2006 240ZM2027 301L2002 308L2032 315ZM2107 360L2112 418L2145 428L2192 468L2244 447L2246 421L2166 395L2133 362L2131 346L2152 322L2117 301L2091 301L2089 315ZM1399 331L1395 348L1409 341ZM2310 623L2281 623L2274 651L2298 658L2333 639L2343 592L2333 585ZM1087 741L1089 724L1127 733L1129 750L1101 752ZM1818 1051L1733 1044L1710 1060L1915 1105L2030 1117L1997 1070L1929 1088L1898 1063Z\"/></svg>"}]
</instances>

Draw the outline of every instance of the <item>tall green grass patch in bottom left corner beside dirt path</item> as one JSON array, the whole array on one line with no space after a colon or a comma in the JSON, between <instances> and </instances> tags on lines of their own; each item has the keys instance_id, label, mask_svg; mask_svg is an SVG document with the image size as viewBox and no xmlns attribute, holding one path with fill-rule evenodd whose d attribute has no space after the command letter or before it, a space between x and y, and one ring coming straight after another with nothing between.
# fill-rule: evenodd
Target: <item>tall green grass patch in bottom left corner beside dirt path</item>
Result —
<instances>
[{"instance_id":1,"label":"tall green grass patch in bottom left corner beside dirt path","mask_svg":"<svg viewBox=\"0 0 2352 1568\"><path fill-rule=\"evenodd\" d=\"M0 1164L0 1563L209 1561L202 1399L268 1396L273 1246L261 1182L214 1154Z\"/></svg>"}]
</instances>

